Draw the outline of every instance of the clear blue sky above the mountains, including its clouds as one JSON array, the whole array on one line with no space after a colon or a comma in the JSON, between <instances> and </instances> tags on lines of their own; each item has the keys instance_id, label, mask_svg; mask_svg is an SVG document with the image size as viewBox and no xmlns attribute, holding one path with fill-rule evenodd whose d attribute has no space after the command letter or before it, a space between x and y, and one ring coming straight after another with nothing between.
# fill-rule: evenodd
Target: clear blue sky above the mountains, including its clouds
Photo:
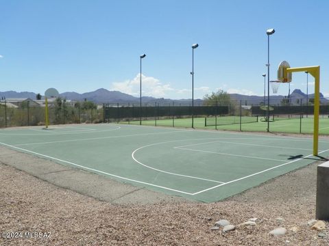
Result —
<instances>
[{"instance_id":1,"label":"clear blue sky above the mountains, including its clouds","mask_svg":"<svg viewBox=\"0 0 329 246\"><path fill-rule=\"evenodd\" d=\"M321 66L329 96L329 1L0 0L0 91L43 94L98 88L139 96L195 98L219 89L263 95L267 35L270 79L282 60L291 67ZM309 76L308 92L313 93ZM306 74L291 90L306 92ZM278 94L287 95L288 85Z\"/></svg>"}]
</instances>

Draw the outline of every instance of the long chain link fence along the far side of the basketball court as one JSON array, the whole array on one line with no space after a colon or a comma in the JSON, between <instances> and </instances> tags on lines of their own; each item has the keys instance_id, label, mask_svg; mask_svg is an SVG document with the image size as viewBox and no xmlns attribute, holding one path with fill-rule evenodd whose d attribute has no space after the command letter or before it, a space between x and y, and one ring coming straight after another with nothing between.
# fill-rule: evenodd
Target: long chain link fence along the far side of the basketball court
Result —
<instances>
[{"instance_id":1,"label":"long chain link fence along the far side of the basketball court","mask_svg":"<svg viewBox=\"0 0 329 246\"><path fill-rule=\"evenodd\" d=\"M195 103L113 103L97 109L79 103L49 106L50 124L113 122L151 126L177 126L225 131L313 133L313 98L270 98L267 100L218 100ZM267 109L269 109L267 111ZM0 127L45 125L45 107L8 107L0 104ZM329 134L329 99L321 98L319 133Z\"/></svg>"}]
</instances>

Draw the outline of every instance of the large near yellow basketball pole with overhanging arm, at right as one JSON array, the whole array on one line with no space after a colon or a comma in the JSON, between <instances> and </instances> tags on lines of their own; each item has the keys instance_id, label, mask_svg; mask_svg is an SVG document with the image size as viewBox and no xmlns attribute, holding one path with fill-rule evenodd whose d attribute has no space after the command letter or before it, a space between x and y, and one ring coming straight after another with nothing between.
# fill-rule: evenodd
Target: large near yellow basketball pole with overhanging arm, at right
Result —
<instances>
[{"instance_id":1,"label":"large near yellow basketball pole with overhanging arm, at right","mask_svg":"<svg viewBox=\"0 0 329 246\"><path fill-rule=\"evenodd\" d=\"M320 66L287 68L287 72L309 72L315 79L313 155L317 156L319 150Z\"/></svg>"}]
</instances>

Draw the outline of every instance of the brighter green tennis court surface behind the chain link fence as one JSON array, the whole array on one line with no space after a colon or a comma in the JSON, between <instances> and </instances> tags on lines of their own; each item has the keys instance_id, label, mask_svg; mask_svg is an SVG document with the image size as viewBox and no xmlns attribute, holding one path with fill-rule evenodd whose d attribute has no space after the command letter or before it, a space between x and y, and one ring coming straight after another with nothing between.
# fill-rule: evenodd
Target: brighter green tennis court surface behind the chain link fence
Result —
<instances>
[{"instance_id":1,"label":"brighter green tennis court surface behind the chain link fence","mask_svg":"<svg viewBox=\"0 0 329 246\"><path fill-rule=\"evenodd\" d=\"M242 122L248 117L243 117ZM252 118L252 117L250 117ZM240 131L239 116L225 116L223 118L217 118L217 130L226 131ZM267 122L262 121L263 117L258 117L258 122L249 122L241 124L241 131L257 131L257 132L267 132ZM230 124L232 122L232 124ZM122 124L128 124L128 122L121 122ZM129 124L139 124L139 120L129 122ZM272 133L313 133L313 115L312 117L306 118L276 118L273 122L269 122L269 129ZM191 128L192 120L191 118L175 118L167 120L142 120L142 125L145 126L175 126ZM205 126L204 118L195 118L194 127L202 129L215 129L213 126ZM320 117L319 118L319 134L329 135L329 118Z\"/></svg>"}]
</instances>

